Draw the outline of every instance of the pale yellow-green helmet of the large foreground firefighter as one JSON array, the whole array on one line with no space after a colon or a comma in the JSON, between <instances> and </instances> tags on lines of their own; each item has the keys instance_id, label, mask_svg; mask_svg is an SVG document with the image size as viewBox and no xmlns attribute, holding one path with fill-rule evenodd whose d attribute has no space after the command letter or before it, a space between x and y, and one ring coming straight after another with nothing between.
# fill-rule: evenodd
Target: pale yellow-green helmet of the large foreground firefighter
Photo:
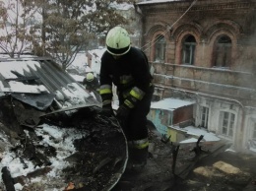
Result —
<instances>
[{"instance_id":1,"label":"pale yellow-green helmet of the large foreground firefighter","mask_svg":"<svg viewBox=\"0 0 256 191\"><path fill-rule=\"evenodd\" d=\"M114 27L106 35L106 49L114 56L126 54L131 48L128 32L122 27Z\"/></svg>"}]
</instances>

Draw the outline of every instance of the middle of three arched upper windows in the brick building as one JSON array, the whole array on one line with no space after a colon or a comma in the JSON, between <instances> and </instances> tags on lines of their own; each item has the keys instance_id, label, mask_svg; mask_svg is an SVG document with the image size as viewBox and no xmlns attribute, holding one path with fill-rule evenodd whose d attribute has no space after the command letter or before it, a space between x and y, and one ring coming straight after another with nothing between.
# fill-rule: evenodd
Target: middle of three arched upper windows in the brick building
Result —
<instances>
[{"instance_id":1,"label":"middle of three arched upper windows in the brick building","mask_svg":"<svg viewBox=\"0 0 256 191\"><path fill-rule=\"evenodd\" d=\"M182 43L182 64L194 64L196 49L196 39L193 35L188 35Z\"/></svg>"}]
</instances>

